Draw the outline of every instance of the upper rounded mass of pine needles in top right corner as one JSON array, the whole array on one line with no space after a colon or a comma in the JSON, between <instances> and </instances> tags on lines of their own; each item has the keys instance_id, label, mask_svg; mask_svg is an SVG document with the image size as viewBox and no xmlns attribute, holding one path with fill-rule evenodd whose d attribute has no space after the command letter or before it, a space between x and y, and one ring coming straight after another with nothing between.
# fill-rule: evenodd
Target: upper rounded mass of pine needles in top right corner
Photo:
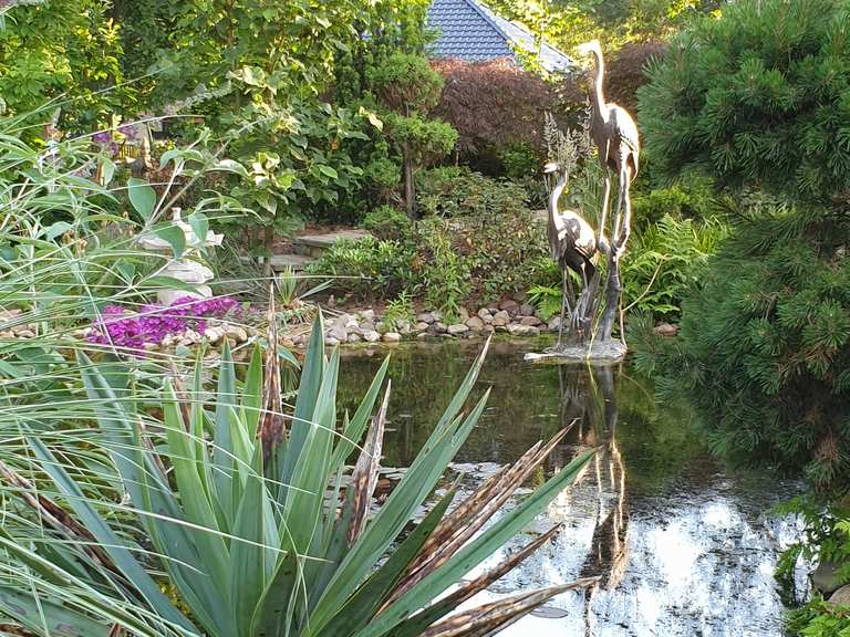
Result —
<instances>
[{"instance_id":1,"label":"upper rounded mass of pine needles in top right corner","mask_svg":"<svg viewBox=\"0 0 850 637\"><path fill-rule=\"evenodd\" d=\"M660 170L819 202L846 195L849 24L844 0L745 0L683 31L640 93Z\"/></svg>"}]
</instances>

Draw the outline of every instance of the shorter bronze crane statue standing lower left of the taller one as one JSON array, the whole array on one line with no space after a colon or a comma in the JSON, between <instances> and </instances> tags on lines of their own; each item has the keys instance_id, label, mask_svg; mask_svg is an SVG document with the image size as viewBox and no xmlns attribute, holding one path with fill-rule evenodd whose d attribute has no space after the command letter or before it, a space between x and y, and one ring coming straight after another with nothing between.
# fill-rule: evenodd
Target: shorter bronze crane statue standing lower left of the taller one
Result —
<instances>
[{"instance_id":1,"label":"shorter bronze crane statue standing lower left of the taller one","mask_svg":"<svg viewBox=\"0 0 850 637\"><path fill-rule=\"evenodd\" d=\"M549 253L561 269L561 324L558 331L558 345L563 336L563 315L567 311L568 274L570 269L581 276L582 291L576 306L570 310L571 323L584 315L585 306L591 301L592 292L589 282L594 281L597 265L594 263L598 249L608 251L604 240L598 241L593 228L578 212L573 210L560 210L558 201L567 187L567 169L558 161L551 161L543 167L547 174L558 173L558 181L549 196L547 236L549 238Z\"/></svg>"}]
</instances>

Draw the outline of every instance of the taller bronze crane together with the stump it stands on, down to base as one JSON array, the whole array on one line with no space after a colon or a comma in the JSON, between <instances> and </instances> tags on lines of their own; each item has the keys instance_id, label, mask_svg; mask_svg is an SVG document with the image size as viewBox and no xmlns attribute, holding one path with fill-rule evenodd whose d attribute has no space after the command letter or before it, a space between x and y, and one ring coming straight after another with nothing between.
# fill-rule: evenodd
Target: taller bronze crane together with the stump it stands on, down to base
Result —
<instances>
[{"instance_id":1,"label":"taller bronze crane together with the stump it stands on, down to base","mask_svg":"<svg viewBox=\"0 0 850 637\"><path fill-rule=\"evenodd\" d=\"M620 257L625 250L632 226L632 202L629 187L638 175L638 158L641 143L638 126L625 108L614 103L605 102L602 91L605 75L602 60L602 48L598 40L592 40L579 46L582 55L592 55L595 62L593 93L591 95L590 136L599 149L599 160L605 175L605 189L602 197L602 211L599 221L597 241L604 241L605 223L611 197L611 174L616 174L618 196L614 222L611 228L611 250L609 255L608 291L605 309L600 323L599 337L602 341L611 338L614 314L620 303L622 285L620 283Z\"/></svg>"}]
</instances>

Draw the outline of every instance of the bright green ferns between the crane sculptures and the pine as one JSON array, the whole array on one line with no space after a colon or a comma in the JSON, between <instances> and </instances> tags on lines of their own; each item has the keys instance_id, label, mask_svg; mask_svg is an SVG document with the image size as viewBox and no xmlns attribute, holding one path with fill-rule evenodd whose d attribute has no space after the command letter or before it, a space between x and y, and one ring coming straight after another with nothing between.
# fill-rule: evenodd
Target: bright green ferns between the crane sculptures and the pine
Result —
<instances>
[{"instance_id":1,"label":"bright green ferns between the crane sculptures and the pine","mask_svg":"<svg viewBox=\"0 0 850 637\"><path fill-rule=\"evenodd\" d=\"M622 263L623 303L677 317L682 299L701 281L708 258L728 232L717 219L695 222L670 215L633 232Z\"/></svg>"}]
</instances>

